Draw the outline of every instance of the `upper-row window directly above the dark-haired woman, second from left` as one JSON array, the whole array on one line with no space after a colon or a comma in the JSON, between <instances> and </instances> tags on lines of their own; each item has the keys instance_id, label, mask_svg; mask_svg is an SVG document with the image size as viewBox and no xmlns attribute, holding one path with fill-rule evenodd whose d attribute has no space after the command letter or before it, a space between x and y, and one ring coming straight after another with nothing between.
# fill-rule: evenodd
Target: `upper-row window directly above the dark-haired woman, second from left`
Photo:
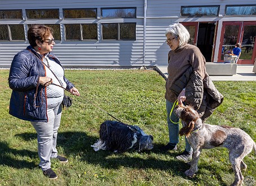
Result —
<instances>
[{"instance_id":1,"label":"upper-row window directly above the dark-haired woman, second from left","mask_svg":"<svg viewBox=\"0 0 256 186\"><path fill-rule=\"evenodd\" d=\"M28 19L59 19L59 9L26 9Z\"/></svg>"}]
</instances>

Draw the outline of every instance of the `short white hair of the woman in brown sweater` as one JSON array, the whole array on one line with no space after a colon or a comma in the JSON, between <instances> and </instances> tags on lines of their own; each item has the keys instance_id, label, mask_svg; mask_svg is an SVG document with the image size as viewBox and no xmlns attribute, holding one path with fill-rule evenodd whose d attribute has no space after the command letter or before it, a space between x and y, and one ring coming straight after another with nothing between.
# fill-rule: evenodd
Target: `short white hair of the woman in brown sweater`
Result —
<instances>
[{"instance_id":1,"label":"short white hair of the woman in brown sweater","mask_svg":"<svg viewBox=\"0 0 256 186\"><path fill-rule=\"evenodd\" d=\"M179 46L182 46L185 43L187 43L190 37L188 30L185 28L185 26L183 26L180 23L170 25L165 31L165 36L168 33L174 37L179 37Z\"/></svg>"}]
</instances>

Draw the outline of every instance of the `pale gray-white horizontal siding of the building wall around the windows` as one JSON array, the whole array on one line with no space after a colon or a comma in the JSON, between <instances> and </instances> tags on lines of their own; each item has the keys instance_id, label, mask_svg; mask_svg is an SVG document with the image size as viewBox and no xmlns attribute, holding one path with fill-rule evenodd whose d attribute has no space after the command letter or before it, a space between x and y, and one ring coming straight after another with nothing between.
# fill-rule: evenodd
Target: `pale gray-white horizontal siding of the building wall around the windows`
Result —
<instances>
[{"instance_id":1,"label":"pale gray-white horizontal siding of the building wall around the windows","mask_svg":"<svg viewBox=\"0 0 256 186\"><path fill-rule=\"evenodd\" d=\"M247 3L246 3L247 2ZM147 1L147 26L145 37L145 64L167 65L167 52L170 48L165 43L165 29L171 23L181 21L220 21L240 20L245 17L223 17L225 5L249 5L251 1L238 0L200 0L200 1L172 1L148 0ZM219 5L219 17L180 17L181 6ZM136 19L101 19L100 8L106 7L136 7ZM25 9L59 8L60 19L56 20L0 20L0 24L60 24L62 41L56 41L54 54L58 56L64 67L86 66L132 66L143 65L143 19L144 0L69 0L69 1L0 1L0 9L22 9L25 18ZM67 19L62 16L63 8L97 8L97 19ZM255 17L248 17L255 20ZM65 41L64 24L97 23L98 41ZM101 41L101 23L136 23L136 41ZM220 38L221 26L218 26L217 41ZM0 67L9 67L14 55L29 45L24 42L0 41ZM215 49L218 51L218 46ZM216 52L215 52L216 53ZM216 54L215 54L216 55ZM138 61L136 61L138 60Z\"/></svg>"}]
</instances>

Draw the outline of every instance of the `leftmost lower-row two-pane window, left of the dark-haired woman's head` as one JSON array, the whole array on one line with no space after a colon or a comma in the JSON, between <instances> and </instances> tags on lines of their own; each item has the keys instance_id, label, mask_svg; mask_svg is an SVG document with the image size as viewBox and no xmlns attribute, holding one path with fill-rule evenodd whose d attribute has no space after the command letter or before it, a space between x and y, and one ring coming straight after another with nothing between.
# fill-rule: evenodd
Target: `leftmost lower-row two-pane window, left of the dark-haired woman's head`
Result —
<instances>
[{"instance_id":1,"label":"leftmost lower-row two-pane window, left of the dark-haired woman's head","mask_svg":"<svg viewBox=\"0 0 256 186\"><path fill-rule=\"evenodd\" d=\"M1 41L25 41L23 25L0 25Z\"/></svg>"}]
</instances>

